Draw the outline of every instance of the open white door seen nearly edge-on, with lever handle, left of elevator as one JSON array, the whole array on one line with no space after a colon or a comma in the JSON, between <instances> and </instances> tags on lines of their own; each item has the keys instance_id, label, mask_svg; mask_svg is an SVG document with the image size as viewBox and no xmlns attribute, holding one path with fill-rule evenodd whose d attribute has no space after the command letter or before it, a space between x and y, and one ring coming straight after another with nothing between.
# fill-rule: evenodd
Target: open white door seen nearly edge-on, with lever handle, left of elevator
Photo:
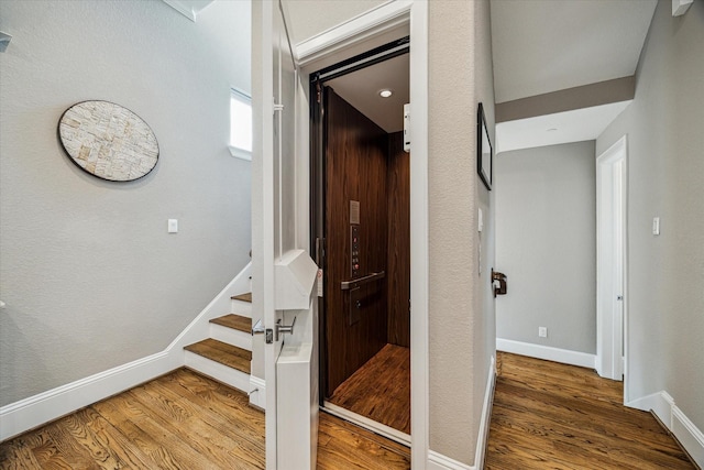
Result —
<instances>
[{"instance_id":1,"label":"open white door seen nearly edge-on, with lever handle, left of elevator","mask_svg":"<svg viewBox=\"0 0 704 470\"><path fill-rule=\"evenodd\" d=\"M279 2L252 4L252 156L253 318L265 334L255 336L253 364L266 384L266 468L292 468L278 456L276 363L292 315L276 309L275 264L296 247L295 92L297 70ZM256 317L256 318L255 318ZM257 357L258 356L258 357ZM263 361L261 359L263 356ZM262 364L263 362L263 364ZM263 369L263 370L262 370Z\"/></svg>"}]
</instances>

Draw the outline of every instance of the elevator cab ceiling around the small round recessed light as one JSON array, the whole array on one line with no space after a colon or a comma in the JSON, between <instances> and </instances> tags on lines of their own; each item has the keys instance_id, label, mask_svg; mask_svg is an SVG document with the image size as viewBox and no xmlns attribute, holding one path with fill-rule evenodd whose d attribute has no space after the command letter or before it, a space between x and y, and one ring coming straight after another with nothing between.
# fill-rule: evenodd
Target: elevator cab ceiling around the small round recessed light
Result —
<instances>
[{"instance_id":1,"label":"elevator cab ceiling around the small round recessed light","mask_svg":"<svg viewBox=\"0 0 704 470\"><path fill-rule=\"evenodd\" d=\"M399 55L327 83L346 102L386 132L404 130L404 105L409 102L409 54ZM382 98L380 91L392 90Z\"/></svg>"}]
</instances>

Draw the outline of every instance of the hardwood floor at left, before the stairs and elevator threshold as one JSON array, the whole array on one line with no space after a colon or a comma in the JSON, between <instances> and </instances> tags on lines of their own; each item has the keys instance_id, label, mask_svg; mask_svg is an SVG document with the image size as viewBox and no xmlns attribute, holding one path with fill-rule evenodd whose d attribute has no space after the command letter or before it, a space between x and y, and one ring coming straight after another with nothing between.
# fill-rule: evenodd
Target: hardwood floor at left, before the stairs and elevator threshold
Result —
<instances>
[{"instance_id":1,"label":"hardwood floor at left, before the stairs and elevator threshold","mask_svg":"<svg viewBox=\"0 0 704 470\"><path fill-rule=\"evenodd\" d=\"M187 369L0 444L0 469L263 469L264 413ZM408 448L321 413L321 469L409 469Z\"/></svg>"}]
</instances>

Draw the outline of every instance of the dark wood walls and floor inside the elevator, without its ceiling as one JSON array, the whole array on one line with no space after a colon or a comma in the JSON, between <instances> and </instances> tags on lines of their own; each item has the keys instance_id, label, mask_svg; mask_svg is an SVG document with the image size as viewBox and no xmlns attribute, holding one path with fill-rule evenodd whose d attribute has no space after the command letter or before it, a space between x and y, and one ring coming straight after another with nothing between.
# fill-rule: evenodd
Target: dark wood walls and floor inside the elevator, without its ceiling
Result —
<instances>
[{"instance_id":1,"label":"dark wood walls and floor inside the elevator, without its ceiling","mask_svg":"<svg viewBox=\"0 0 704 470\"><path fill-rule=\"evenodd\" d=\"M408 435L410 154L403 131L385 131L331 86L321 92L321 402Z\"/></svg>"}]
</instances>

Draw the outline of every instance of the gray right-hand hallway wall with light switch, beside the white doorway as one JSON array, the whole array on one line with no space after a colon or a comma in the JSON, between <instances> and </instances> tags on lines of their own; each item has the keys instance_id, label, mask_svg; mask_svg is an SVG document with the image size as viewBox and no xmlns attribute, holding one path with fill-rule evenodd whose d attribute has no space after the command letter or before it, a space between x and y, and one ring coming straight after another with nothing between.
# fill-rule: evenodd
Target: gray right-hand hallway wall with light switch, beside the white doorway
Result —
<instances>
[{"instance_id":1,"label":"gray right-hand hallway wall with light switch, beside the white doorway","mask_svg":"<svg viewBox=\"0 0 704 470\"><path fill-rule=\"evenodd\" d=\"M658 3L634 102L597 139L628 134L627 400L667 391L704 429L704 2ZM660 217L660 236L651 232Z\"/></svg>"}]
</instances>

